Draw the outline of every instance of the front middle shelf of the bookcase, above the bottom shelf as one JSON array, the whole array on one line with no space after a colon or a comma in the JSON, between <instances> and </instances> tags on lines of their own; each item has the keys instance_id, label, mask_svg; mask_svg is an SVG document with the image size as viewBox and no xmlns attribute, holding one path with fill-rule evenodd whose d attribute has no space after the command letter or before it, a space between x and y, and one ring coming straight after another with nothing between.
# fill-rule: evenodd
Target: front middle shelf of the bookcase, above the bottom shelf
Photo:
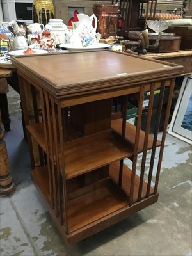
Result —
<instances>
[{"instance_id":1,"label":"front middle shelf of the bookcase, above the bottom shelf","mask_svg":"<svg viewBox=\"0 0 192 256\"><path fill-rule=\"evenodd\" d=\"M100 132L65 143L65 175L71 179L113 161L131 157L132 150L112 136L112 131ZM60 166L61 166L61 154Z\"/></svg>"}]
</instances>

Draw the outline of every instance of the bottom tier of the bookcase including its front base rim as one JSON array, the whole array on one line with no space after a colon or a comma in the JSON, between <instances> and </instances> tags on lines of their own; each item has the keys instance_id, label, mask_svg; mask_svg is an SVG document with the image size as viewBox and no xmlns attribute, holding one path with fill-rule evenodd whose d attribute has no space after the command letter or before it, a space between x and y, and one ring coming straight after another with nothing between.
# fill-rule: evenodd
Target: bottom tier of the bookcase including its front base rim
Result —
<instances>
[{"instance_id":1,"label":"bottom tier of the bookcase including its front base rim","mask_svg":"<svg viewBox=\"0 0 192 256\"><path fill-rule=\"evenodd\" d=\"M81 194L68 200L68 234L66 234L64 226L60 224L60 221L55 216L54 209L51 208L49 177L46 166L32 170L31 179L44 198L62 236L71 244L77 243L127 218L134 212L153 204L158 198L158 194L150 195L149 198L144 198L141 202L135 202L130 206L124 191L113 180L106 179L101 182L101 186L95 186L92 191L86 191L85 189L86 192L83 195Z\"/></svg>"}]
</instances>

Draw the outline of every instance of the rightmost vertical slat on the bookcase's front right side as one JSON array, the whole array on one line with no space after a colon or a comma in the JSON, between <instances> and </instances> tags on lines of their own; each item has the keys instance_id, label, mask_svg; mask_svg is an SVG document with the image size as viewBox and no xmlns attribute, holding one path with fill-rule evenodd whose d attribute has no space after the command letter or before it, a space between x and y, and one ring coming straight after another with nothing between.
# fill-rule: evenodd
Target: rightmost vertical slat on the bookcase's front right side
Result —
<instances>
[{"instance_id":1,"label":"rightmost vertical slat on the bookcase's front right side","mask_svg":"<svg viewBox=\"0 0 192 256\"><path fill-rule=\"evenodd\" d=\"M160 170L161 170L161 162L162 162L162 158L163 158L166 129L167 129L168 121L169 121L170 109L172 106L174 84L175 84L175 79L172 79L171 84L170 84L170 93L169 93L169 97L168 97L168 104L166 106L166 115L164 118L164 127L163 127L163 134L162 134L162 138L161 138L161 148L160 148L160 152L159 152L159 160L158 160L158 165L157 165L157 175L156 175L156 182L155 182L155 187L154 187L154 194L157 193L157 188L158 188L158 184L159 184L159 175L160 175Z\"/></svg>"}]
</instances>

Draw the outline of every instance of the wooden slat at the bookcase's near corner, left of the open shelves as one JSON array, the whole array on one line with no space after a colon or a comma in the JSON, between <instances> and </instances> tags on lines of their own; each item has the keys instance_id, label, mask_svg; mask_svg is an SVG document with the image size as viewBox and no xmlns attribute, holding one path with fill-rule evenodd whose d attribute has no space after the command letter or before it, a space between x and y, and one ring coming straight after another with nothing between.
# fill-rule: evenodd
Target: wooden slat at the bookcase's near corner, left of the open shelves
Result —
<instances>
[{"instance_id":1,"label":"wooden slat at the bookcase's near corner, left of the open shelves","mask_svg":"<svg viewBox=\"0 0 192 256\"><path fill-rule=\"evenodd\" d=\"M66 177L65 177L65 150L64 150L64 134L63 130L65 129L65 120L62 120L62 110L61 110L61 102L58 102L58 130L59 130L59 136L60 136L60 150L61 150L61 156L60 156L60 172L58 173L58 191L59 191L59 204L60 204L60 212L62 213L62 216L60 215L60 223L63 225L63 214L64 214L64 227L65 232L68 234L68 216L67 216L67 184L66 184ZM62 174L62 175L61 175ZM62 179L62 180L61 180ZM61 205L61 185L63 186L63 209Z\"/></svg>"}]
</instances>

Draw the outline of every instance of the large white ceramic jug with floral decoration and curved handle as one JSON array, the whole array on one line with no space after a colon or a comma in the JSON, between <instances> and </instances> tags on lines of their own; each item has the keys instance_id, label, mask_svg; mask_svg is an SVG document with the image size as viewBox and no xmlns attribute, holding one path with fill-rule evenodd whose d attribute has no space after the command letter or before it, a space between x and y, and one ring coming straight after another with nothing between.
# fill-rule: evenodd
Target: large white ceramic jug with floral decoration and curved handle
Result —
<instances>
[{"instance_id":1,"label":"large white ceramic jug with floral decoration and curved handle","mask_svg":"<svg viewBox=\"0 0 192 256\"><path fill-rule=\"evenodd\" d=\"M79 21L72 22L73 34L70 37L70 43L83 47L97 44L97 17L95 14L89 17L86 14L80 13L77 14L77 17ZM95 22L94 27L93 20Z\"/></svg>"}]
</instances>

